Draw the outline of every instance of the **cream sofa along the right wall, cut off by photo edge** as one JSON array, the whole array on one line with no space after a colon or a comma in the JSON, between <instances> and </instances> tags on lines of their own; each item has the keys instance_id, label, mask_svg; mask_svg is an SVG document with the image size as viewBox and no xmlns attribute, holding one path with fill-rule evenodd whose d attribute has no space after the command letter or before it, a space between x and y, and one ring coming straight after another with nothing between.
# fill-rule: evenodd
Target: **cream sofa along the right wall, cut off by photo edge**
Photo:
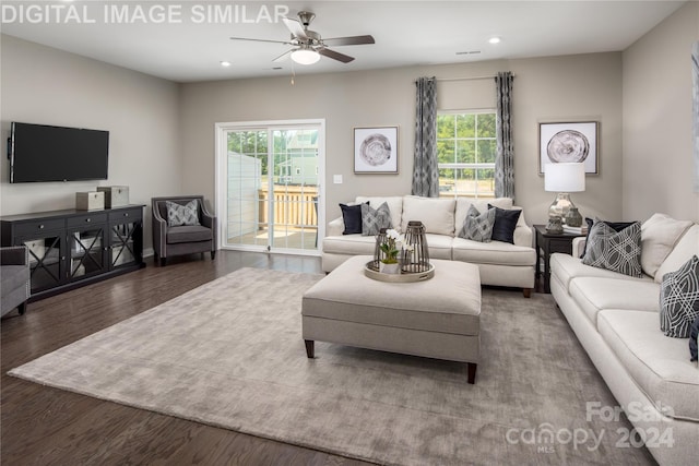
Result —
<instances>
[{"instance_id":1,"label":"cream sofa along the right wall, cut off by photo edge","mask_svg":"<svg viewBox=\"0 0 699 466\"><path fill-rule=\"evenodd\" d=\"M665 226L657 223L663 219ZM655 234L645 228L651 220ZM662 465L697 464L699 458L699 369L690 362L688 338L672 338L660 330L663 275L699 254L699 225L680 224L659 214L643 224L640 278L582 264L584 238L573 241L573 255L550 258L556 302ZM663 231L672 235L662 238ZM588 415L602 416L609 408L615 407L596 407Z\"/></svg>"}]
</instances>

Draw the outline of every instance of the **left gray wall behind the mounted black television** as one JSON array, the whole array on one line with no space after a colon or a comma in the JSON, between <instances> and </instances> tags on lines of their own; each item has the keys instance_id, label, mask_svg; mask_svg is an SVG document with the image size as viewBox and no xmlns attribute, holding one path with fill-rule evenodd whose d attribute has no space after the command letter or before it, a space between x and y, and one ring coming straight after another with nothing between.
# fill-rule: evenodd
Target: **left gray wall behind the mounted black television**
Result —
<instances>
[{"instance_id":1,"label":"left gray wall behind the mounted black television","mask_svg":"<svg viewBox=\"0 0 699 466\"><path fill-rule=\"evenodd\" d=\"M2 215L75 206L75 192L126 184L130 202L181 191L179 85L2 35L0 138L11 121L109 131L109 179L9 183L0 163ZM2 145L4 147L4 144ZM150 208L146 214L150 218ZM151 248L150 220L145 247Z\"/></svg>"}]
</instances>

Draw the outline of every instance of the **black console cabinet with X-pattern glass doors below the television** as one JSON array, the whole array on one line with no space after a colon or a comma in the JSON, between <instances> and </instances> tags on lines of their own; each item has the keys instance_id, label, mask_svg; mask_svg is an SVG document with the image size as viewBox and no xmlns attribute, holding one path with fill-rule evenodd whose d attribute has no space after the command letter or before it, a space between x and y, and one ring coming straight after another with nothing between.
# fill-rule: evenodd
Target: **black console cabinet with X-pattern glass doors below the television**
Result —
<instances>
[{"instance_id":1,"label":"black console cabinet with X-pattern glass doors below the television","mask_svg":"<svg viewBox=\"0 0 699 466\"><path fill-rule=\"evenodd\" d=\"M28 249L29 301L144 267L143 207L0 217L1 244Z\"/></svg>"}]
</instances>

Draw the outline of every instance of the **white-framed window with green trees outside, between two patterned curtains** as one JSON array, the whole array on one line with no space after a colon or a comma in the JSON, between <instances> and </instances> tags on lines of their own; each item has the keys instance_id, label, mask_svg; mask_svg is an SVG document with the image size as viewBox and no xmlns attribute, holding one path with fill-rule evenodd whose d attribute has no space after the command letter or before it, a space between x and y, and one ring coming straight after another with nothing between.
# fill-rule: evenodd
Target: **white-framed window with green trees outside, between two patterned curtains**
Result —
<instances>
[{"instance_id":1,"label":"white-framed window with green trees outside, between two patterned curtains","mask_svg":"<svg viewBox=\"0 0 699 466\"><path fill-rule=\"evenodd\" d=\"M495 196L495 110L437 115L441 198Z\"/></svg>"}]
</instances>

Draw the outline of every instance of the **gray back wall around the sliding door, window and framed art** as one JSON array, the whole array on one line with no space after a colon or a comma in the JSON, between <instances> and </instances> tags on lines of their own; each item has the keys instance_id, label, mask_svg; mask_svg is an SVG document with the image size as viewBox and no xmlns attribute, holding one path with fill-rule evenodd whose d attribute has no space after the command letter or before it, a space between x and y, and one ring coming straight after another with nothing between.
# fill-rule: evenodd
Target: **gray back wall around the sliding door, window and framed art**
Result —
<instances>
[{"instance_id":1,"label":"gray back wall around the sliding door, window and framed art","mask_svg":"<svg viewBox=\"0 0 699 466\"><path fill-rule=\"evenodd\" d=\"M418 76L440 79L512 71L517 200L530 224L543 223L555 194L538 175L538 122L601 122L601 175L574 202L583 215L621 216L621 56L595 53L472 64L412 67L368 72L221 81L182 85L185 191L214 195L214 123L324 118L327 218L358 194L407 194L411 190ZM495 83L442 81L442 109L495 108ZM353 128L399 126L399 175L354 175ZM342 175L343 184L332 184Z\"/></svg>"}]
</instances>

